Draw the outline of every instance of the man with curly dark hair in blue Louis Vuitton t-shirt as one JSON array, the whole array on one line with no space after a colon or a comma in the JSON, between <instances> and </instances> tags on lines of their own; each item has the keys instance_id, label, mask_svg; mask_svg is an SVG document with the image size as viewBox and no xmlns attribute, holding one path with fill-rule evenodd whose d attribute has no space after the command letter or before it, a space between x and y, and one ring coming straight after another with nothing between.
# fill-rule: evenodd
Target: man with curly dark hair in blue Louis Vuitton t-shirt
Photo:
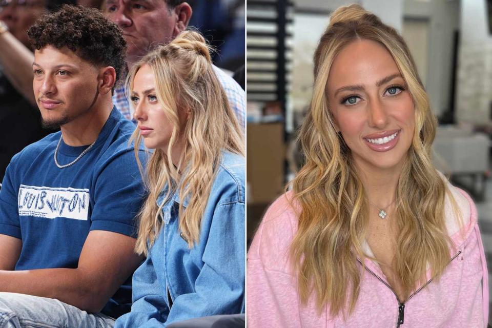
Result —
<instances>
[{"instance_id":1,"label":"man with curly dark hair in blue Louis Vuitton t-shirt","mask_svg":"<svg viewBox=\"0 0 492 328\"><path fill-rule=\"evenodd\" d=\"M131 306L144 189L134 130L112 105L119 28L64 6L28 31L34 94L60 132L12 159L0 193L0 327L112 327Z\"/></svg>"}]
</instances>

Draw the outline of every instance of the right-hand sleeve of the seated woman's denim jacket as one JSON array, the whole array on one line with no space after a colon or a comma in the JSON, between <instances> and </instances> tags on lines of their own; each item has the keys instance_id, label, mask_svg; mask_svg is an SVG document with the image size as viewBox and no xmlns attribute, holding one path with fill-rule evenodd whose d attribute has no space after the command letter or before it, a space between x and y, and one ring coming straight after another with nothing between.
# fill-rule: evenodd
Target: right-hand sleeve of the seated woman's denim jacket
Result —
<instances>
[{"instance_id":1,"label":"right-hand sleeve of the seated woman's denim jacket","mask_svg":"<svg viewBox=\"0 0 492 328\"><path fill-rule=\"evenodd\" d=\"M168 323L243 312L244 202L218 205L207 238L195 292L174 299Z\"/></svg>"}]
</instances>

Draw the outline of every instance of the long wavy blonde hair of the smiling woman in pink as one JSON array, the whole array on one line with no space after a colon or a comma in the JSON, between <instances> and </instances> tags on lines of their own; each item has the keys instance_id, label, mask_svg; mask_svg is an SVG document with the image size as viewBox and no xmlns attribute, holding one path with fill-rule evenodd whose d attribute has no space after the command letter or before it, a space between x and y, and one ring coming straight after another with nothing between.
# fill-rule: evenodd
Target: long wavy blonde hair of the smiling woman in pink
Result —
<instances>
[{"instance_id":1,"label":"long wavy blonde hair of the smiling woman in pink","mask_svg":"<svg viewBox=\"0 0 492 328\"><path fill-rule=\"evenodd\" d=\"M301 301L306 303L314 291L318 310L329 304L332 315L345 315L347 309L351 313L355 307L363 271L356 257L364 259L362 242L369 213L351 151L336 132L326 94L334 58L357 39L373 40L391 53L415 104L415 133L396 194L399 220L392 267L405 298L418 282L424 282L427 263L438 279L450 260L451 241L444 220L449 193L431 159L437 120L414 60L403 38L377 16L359 5L339 8L314 55L313 97L299 134L305 165L293 181L300 211L291 245Z\"/></svg>"}]
</instances>

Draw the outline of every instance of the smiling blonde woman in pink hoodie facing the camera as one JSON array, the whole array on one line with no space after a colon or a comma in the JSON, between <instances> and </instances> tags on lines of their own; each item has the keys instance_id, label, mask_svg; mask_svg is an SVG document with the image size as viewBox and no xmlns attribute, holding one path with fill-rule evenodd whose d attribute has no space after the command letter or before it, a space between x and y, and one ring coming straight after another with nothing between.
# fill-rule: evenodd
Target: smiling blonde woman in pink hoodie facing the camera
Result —
<instances>
[{"instance_id":1,"label":"smiling blonde woman in pink hoodie facing the camera","mask_svg":"<svg viewBox=\"0 0 492 328\"><path fill-rule=\"evenodd\" d=\"M437 121L404 40L342 7L314 61L305 165L248 254L248 326L486 326L477 212L432 164Z\"/></svg>"}]
</instances>

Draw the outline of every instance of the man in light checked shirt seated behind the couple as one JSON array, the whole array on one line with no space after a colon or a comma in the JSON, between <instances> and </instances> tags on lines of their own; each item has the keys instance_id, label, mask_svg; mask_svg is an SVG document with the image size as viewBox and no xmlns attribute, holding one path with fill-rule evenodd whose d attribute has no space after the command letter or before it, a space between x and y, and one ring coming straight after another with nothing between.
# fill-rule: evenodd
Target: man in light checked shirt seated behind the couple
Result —
<instances>
[{"instance_id":1,"label":"man in light checked shirt seated behind the couple","mask_svg":"<svg viewBox=\"0 0 492 328\"><path fill-rule=\"evenodd\" d=\"M103 11L123 31L128 45L127 63L132 66L142 56L161 44L168 44L181 31L186 30L192 15L192 2L184 0L106 0ZM221 69L214 66L229 105L244 129L244 90ZM133 112L125 96L124 86L116 88L113 103L128 119Z\"/></svg>"}]
</instances>

